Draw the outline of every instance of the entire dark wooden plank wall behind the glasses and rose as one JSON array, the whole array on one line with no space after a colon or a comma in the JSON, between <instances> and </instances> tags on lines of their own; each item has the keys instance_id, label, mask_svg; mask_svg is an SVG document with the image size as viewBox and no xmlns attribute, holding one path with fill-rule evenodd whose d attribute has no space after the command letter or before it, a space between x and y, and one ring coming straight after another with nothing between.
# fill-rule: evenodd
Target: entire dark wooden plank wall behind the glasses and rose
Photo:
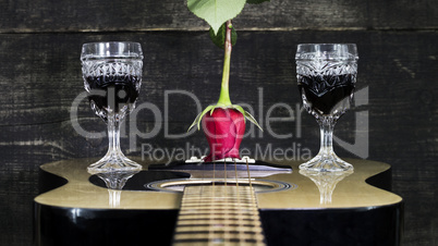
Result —
<instances>
[{"instance_id":1,"label":"entire dark wooden plank wall behind the glasses and rose","mask_svg":"<svg viewBox=\"0 0 438 246\"><path fill-rule=\"evenodd\" d=\"M300 42L355 42L360 51L357 88L365 103L351 110L336 135L355 140L357 112L368 112L368 159L393 165L393 190L405 200L405 245L438 243L438 2L435 0L272 0L247 5L234 20L231 97L245 102L266 127L267 111L283 102L295 109L294 53ZM42 163L102 156L107 142L73 127L71 107L83 91L81 46L88 41L132 40L144 48L144 82L138 103L155 104L162 116L150 138L122 138L130 155L142 144L155 149L206 148L202 133L175 139L202 107L216 102L222 51L208 39L206 24L184 1L0 0L0 245L32 243L32 201ZM178 90L180 93L173 93ZM166 109L168 109L166 111ZM168 116L166 116L166 112ZM295 112L296 113L296 112ZM289 116L284 108L272 111ZM257 146L318 150L318 127L308 114L270 124L284 139L255 132L242 148ZM105 124L83 102L80 125L101 132ZM135 119L147 133L149 110ZM130 133L132 127L125 127ZM363 130L360 130L363 131ZM134 140L133 140L134 139ZM342 157L357 158L336 145ZM159 152L157 152L159 155Z\"/></svg>"}]
</instances>

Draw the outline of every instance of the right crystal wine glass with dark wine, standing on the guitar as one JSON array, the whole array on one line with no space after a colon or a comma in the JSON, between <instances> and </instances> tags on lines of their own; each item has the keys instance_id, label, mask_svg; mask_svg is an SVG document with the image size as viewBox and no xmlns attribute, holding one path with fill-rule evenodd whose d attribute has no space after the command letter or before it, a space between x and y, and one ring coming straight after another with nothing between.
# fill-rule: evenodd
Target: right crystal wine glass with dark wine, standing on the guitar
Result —
<instances>
[{"instance_id":1,"label":"right crystal wine glass with dark wine, standing on the guitar","mask_svg":"<svg viewBox=\"0 0 438 246\"><path fill-rule=\"evenodd\" d=\"M300 165L302 170L336 172L353 170L333 151L332 134L338 119L350 108L357 74L354 44L302 44L296 50L296 77L304 108L320 126L320 149Z\"/></svg>"}]
</instances>

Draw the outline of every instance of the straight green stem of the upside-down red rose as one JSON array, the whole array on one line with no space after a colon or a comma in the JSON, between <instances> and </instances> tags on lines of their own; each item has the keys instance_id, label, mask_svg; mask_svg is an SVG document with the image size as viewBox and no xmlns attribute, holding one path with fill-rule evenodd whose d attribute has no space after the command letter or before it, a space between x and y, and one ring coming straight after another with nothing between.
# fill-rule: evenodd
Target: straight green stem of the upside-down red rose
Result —
<instances>
[{"instance_id":1,"label":"straight green stem of the upside-down red rose","mask_svg":"<svg viewBox=\"0 0 438 246\"><path fill-rule=\"evenodd\" d=\"M230 90L229 90L229 82L230 82L230 60L231 60L231 20L227 21L227 33L226 33L226 44L224 44L224 57L223 57L223 72L222 72L222 84L220 86L220 96L218 104L220 106L231 106L230 100Z\"/></svg>"}]
</instances>

